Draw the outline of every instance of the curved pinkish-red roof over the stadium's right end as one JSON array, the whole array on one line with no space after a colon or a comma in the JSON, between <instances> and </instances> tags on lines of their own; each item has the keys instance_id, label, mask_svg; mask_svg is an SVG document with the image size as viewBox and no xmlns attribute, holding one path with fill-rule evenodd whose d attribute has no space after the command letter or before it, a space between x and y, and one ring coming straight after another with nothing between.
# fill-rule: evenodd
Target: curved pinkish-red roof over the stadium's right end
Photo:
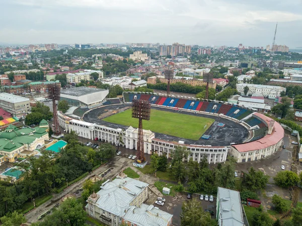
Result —
<instances>
[{"instance_id":1,"label":"curved pinkish-red roof over the stadium's right end","mask_svg":"<svg viewBox=\"0 0 302 226\"><path fill-rule=\"evenodd\" d=\"M266 124L268 125L269 122L272 120L271 118L260 113L255 113L254 115L258 116L262 121L265 121ZM277 142L279 142L283 138L283 136L284 136L284 129L278 122L275 121L273 131L271 134L267 134L266 136L262 137L259 140L232 145L232 146L235 147L238 150L238 152L250 152L252 150L259 150L274 145Z\"/></svg>"}]
</instances>

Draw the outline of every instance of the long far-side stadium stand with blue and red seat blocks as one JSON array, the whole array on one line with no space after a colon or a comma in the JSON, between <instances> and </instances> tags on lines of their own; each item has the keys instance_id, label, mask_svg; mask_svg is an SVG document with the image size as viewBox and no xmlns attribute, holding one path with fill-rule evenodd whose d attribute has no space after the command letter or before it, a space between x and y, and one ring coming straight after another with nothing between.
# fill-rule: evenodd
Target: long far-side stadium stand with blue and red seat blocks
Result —
<instances>
[{"instance_id":1,"label":"long far-side stadium stand with blue and red seat blocks","mask_svg":"<svg viewBox=\"0 0 302 226\"><path fill-rule=\"evenodd\" d=\"M171 107L176 109L203 111L216 114L224 114L226 116L241 120L251 114L248 109L228 104L220 104L216 102L206 102L199 100L188 100L176 97L163 97L154 94L136 94L123 93L124 102L131 103L133 99L148 100L153 105Z\"/></svg>"}]
</instances>

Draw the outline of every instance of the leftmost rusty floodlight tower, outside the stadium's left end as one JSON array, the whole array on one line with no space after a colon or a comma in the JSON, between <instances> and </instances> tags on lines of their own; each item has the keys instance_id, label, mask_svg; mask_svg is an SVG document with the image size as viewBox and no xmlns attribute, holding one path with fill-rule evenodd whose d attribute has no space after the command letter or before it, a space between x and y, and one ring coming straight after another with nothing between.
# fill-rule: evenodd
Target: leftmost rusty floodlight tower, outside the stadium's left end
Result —
<instances>
[{"instance_id":1,"label":"leftmost rusty floodlight tower, outside the stadium's left end","mask_svg":"<svg viewBox=\"0 0 302 226\"><path fill-rule=\"evenodd\" d=\"M48 84L48 98L52 100L52 111L53 111L53 133L55 135L60 134L60 127L59 127L59 120L58 120L58 113L56 109L55 101L60 100L60 93L61 87L59 84Z\"/></svg>"}]
</instances>

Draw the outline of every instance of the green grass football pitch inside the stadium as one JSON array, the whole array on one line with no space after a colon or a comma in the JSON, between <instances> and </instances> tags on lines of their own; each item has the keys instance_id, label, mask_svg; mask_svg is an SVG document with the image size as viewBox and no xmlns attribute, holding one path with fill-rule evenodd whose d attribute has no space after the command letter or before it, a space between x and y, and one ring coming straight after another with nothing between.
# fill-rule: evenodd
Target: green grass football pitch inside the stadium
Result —
<instances>
[{"instance_id":1,"label":"green grass football pitch inside the stadium","mask_svg":"<svg viewBox=\"0 0 302 226\"><path fill-rule=\"evenodd\" d=\"M106 122L137 128L138 119L131 117L131 109L103 119ZM151 110L149 121L143 121L143 128L172 136L198 140L211 126L214 119L167 111ZM206 126L205 129L203 127Z\"/></svg>"}]
</instances>

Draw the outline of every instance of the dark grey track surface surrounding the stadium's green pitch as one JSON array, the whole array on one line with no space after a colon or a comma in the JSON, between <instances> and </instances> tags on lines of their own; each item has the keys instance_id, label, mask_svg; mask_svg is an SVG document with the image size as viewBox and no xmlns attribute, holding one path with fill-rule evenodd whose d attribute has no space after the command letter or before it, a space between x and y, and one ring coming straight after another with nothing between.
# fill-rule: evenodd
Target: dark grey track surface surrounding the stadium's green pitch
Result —
<instances>
[{"instance_id":1,"label":"dark grey track surface surrounding the stadium's green pitch","mask_svg":"<svg viewBox=\"0 0 302 226\"><path fill-rule=\"evenodd\" d=\"M109 126L112 128L127 129L128 126L105 122L102 119L98 118L101 114L107 113L108 111L117 111L118 109L122 109L127 106L130 107L131 105L121 104L121 105L113 105L113 106L105 106L105 107L97 108L85 114L83 120L90 123L97 123L99 125ZM208 140L202 138L199 138L198 140L184 139L176 136L155 132L155 137L159 139L173 140L177 142L182 140L185 141L185 143L187 144L225 146L225 145L230 145L230 143L242 143L249 136L249 132L244 126L228 119L224 119L212 115L201 114L201 113L195 114L194 112L187 112L187 111L180 112L167 108L152 107L152 109L215 119L215 122L204 133L205 135L211 135L211 138ZM218 127L217 124L219 122L224 123L225 124L224 127ZM176 129L182 129L181 125L176 125L176 126L177 126Z\"/></svg>"}]
</instances>

